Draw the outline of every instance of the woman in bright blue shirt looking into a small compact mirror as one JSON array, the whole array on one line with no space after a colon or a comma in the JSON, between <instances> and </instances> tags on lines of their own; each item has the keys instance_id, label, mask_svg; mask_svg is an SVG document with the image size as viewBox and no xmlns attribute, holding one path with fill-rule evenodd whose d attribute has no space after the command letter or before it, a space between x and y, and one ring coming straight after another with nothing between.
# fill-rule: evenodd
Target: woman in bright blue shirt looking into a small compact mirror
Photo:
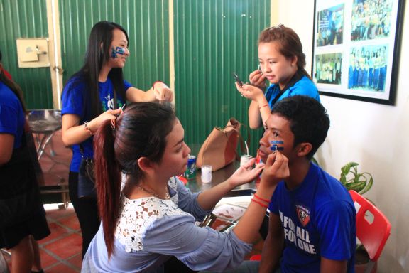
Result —
<instances>
[{"instance_id":1,"label":"woman in bright blue shirt looking into a small compact mirror","mask_svg":"<svg viewBox=\"0 0 409 273\"><path fill-rule=\"evenodd\" d=\"M251 100L249 126L257 129L270 116L279 100L293 95L306 95L320 101L317 87L305 70L305 54L293 29L279 24L264 29L258 38L259 69L249 75L250 84L237 90ZM266 93L266 79L270 82Z\"/></svg>"}]
</instances>

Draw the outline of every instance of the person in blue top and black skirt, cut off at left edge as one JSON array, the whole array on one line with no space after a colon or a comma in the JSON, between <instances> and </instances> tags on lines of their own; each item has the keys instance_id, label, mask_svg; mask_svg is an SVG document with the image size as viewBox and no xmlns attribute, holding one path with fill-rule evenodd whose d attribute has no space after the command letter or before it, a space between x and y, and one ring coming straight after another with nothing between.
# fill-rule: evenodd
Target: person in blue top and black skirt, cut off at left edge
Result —
<instances>
[{"instance_id":1,"label":"person in blue top and black skirt, cut off at left edge","mask_svg":"<svg viewBox=\"0 0 409 273\"><path fill-rule=\"evenodd\" d=\"M43 272L36 240L50 234L25 126L23 92L4 73L0 52L0 248L11 252L11 273Z\"/></svg>"}]
</instances>

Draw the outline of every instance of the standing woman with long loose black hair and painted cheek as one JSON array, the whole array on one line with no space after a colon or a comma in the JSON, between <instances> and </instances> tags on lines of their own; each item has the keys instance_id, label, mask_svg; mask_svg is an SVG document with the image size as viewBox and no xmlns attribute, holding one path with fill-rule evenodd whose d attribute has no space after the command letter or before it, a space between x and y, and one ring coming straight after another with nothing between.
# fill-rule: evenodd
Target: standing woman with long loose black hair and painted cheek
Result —
<instances>
[{"instance_id":1,"label":"standing woman with long loose black hair and painted cheek","mask_svg":"<svg viewBox=\"0 0 409 273\"><path fill-rule=\"evenodd\" d=\"M154 82L143 92L126 82L122 68L129 57L128 34L119 24L96 23L89 35L84 65L68 80L62 92L62 141L72 146L69 193L82 232L82 257L99 228L96 196L80 198L78 180L81 161L93 158L94 132L104 120L121 112L126 100L172 101L173 92Z\"/></svg>"}]
</instances>

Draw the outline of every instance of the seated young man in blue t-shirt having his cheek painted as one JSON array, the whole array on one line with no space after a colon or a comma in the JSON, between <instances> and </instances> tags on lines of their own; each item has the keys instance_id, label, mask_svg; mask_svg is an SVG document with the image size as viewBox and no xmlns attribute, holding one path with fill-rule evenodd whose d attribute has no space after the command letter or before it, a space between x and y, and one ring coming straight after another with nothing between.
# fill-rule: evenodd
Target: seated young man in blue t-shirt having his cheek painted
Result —
<instances>
[{"instance_id":1,"label":"seated young man in blue t-shirt having his cheek painted","mask_svg":"<svg viewBox=\"0 0 409 273\"><path fill-rule=\"evenodd\" d=\"M261 261L246 261L231 272L354 272L354 203L342 183L310 162L328 129L326 109L310 97L286 97L273 107L260 155L268 160L277 145L290 176L278 183L268 205Z\"/></svg>"}]
</instances>

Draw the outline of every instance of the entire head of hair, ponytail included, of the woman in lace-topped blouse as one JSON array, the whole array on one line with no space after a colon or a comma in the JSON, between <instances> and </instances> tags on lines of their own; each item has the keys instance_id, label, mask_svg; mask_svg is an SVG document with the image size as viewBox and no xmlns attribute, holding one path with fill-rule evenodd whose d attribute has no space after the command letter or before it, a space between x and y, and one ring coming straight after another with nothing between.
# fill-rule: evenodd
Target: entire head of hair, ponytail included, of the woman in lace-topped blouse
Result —
<instances>
[{"instance_id":1,"label":"entire head of hair, ponytail included, of the woman in lace-topped blouse","mask_svg":"<svg viewBox=\"0 0 409 273\"><path fill-rule=\"evenodd\" d=\"M108 257L114 252L114 232L121 210L121 171L131 177L135 186L144 177L138 159L146 157L160 162L166 137L172 131L176 116L172 105L154 102L129 104L112 122L106 120L94 136L94 174L98 210L104 228ZM114 128L114 129L112 129Z\"/></svg>"}]
</instances>

